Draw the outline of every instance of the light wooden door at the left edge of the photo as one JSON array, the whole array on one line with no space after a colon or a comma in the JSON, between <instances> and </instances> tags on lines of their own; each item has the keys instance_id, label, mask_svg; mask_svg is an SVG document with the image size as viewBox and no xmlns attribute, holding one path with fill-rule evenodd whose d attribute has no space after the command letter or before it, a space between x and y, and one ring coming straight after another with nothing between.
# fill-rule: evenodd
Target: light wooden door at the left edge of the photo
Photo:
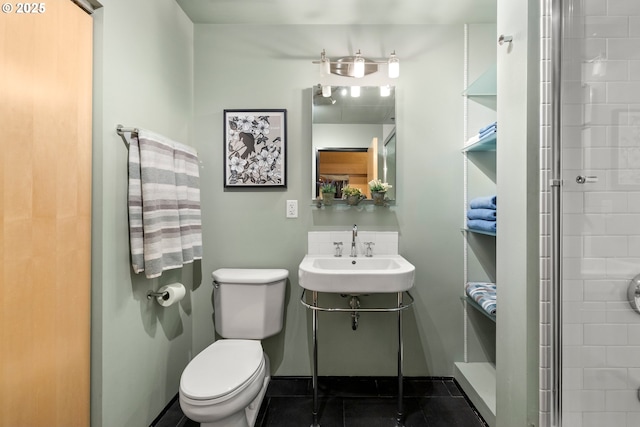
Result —
<instances>
[{"instance_id":1,"label":"light wooden door at the left edge of the photo","mask_svg":"<svg viewBox=\"0 0 640 427\"><path fill-rule=\"evenodd\" d=\"M92 18L69 0L47 0L36 13L6 5L0 16L0 426L86 427Z\"/></svg>"}]
</instances>

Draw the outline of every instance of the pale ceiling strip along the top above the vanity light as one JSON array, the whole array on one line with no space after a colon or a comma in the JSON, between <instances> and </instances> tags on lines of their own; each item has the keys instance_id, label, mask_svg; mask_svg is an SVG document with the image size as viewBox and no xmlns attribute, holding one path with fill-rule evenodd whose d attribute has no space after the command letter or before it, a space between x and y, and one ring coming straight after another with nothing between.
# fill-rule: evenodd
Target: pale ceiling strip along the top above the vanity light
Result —
<instances>
[{"instance_id":1,"label":"pale ceiling strip along the top above the vanity light","mask_svg":"<svg viewBox=\"0 0 640 427\"><path fill-rule=\"evenodd\" d=\"M496 0L176 1L197 24L402 25L496 20Z\"/></svg>"}]
</instances>

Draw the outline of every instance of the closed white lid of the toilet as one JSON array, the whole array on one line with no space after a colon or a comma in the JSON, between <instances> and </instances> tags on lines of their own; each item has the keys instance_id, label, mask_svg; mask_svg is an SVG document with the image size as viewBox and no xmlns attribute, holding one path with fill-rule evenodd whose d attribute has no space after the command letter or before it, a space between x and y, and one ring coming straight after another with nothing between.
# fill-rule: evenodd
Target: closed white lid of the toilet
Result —
<instances>
[{"instance_id":1,"label":"closed white lid of the toilet","mask_svg":"<svg viewBox=\"0 0 640 427\"><path fill-rule=\"evenodd\" d=\"M189 362L180 378L180 390L191 399L215 399L247 382L262 363L260 341L219 340Z\"/></svg>"}]
</instances>

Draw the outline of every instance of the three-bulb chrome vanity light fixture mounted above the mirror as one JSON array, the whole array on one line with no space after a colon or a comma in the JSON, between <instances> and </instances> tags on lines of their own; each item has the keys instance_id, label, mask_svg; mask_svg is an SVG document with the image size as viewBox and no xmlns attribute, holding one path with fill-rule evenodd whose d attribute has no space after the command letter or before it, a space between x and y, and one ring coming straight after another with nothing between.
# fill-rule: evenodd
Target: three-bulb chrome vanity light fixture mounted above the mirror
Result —
<instances>
[{"instance_id":1,"label":"three-bulb chrome vanity light fixture mounted above the mirror","mask_svg":"<svg viewBox=\"0 0 640 427\"><path fill-rule=\"evenodd\" d=\"M390 79L396 79L400 76L400 60L396 56L395 50L386 61L365 58L359 49L355 56L345 56L332 61L327 57L323 49L320 53L320 60L312 62L314 64L320 64L320 74L323 77L329 74L335 74L344 77L360 78L378 72L382 64L387 66Z\"/></svg>"}]
</instances>

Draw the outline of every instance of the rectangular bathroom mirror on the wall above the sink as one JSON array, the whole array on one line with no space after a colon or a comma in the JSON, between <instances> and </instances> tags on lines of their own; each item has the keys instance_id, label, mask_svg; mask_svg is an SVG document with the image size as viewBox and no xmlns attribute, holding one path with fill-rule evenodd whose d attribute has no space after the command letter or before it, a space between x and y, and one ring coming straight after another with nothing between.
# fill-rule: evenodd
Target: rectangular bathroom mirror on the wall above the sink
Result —
<instances>
[{"instance_id":1,"label":"rectangular bathroom mirror on the wall above the sink","mask_svg":"<svg viewBox=\"0 0 640 427\"><path fill-rule=\"evenodd\" d=\"M385 93L384 90L387 90ZM320 183L336 184L336 197L346 185L360 188L371 199L368 182L380 179L392 187L395 200L396 108L395 88L360 87L353 96L349 86L331 86L330 96L312 88L311 198L319 196Z\"/></svg>"}]
</instances>

